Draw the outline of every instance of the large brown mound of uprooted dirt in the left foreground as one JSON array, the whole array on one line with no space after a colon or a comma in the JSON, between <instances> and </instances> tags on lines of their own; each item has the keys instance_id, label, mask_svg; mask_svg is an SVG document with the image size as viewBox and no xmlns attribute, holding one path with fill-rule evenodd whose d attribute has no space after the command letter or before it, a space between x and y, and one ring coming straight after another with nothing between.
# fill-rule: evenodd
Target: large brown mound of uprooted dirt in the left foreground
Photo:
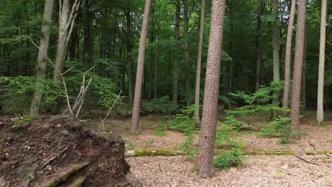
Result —
<instances>
[{"instance_id":1,"label":"large brown mound of uprooted dirt in the left foreground","mask_svg":"<svg viewBox=\"0 0 332 187\"><path fill-rule=\"evenodd\" d=\"M124 145L65 116L0 121L0 186L142 186Z\"/></svg>"}]
</instances>

